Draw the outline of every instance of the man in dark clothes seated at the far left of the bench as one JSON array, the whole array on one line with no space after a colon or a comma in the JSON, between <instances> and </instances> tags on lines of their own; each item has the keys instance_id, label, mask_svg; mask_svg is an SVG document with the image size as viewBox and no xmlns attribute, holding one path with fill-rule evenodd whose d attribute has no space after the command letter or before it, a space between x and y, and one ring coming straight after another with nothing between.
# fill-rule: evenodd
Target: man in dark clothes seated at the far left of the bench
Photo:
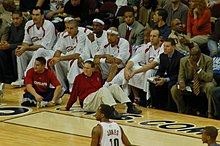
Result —
<instances>
[{"instance_id":1,"label":"man in dark clothes seated at the far left of the bench","mask_svg":"<svg viewBox=\"0 0 220 146\"><path fill-rule=\"evenodd\" d=\"M9 38L0 43L0 82L11 83L17 79L15 49L23 41L25 23L22 13L14 11L8 33Z\"/></svg>"}]
</instances>

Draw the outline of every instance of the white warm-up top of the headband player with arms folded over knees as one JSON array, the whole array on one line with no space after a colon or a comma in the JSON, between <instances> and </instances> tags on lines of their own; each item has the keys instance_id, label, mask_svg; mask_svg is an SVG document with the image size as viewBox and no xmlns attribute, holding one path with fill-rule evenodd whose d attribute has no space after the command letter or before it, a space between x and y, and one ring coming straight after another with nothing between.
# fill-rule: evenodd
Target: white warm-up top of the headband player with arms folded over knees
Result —
<instances>
[{"instance_id":1,"label":"white warm-up top of the headband player with arms folded over knees","mask_svg":"<svg viewBox=\"0 0 220 146\"><path fill-rule=\"evenodd\" d=\"M101 47L101 49L96 53L96 55L109 54L114 57L121 59L122 64L124 65L128 58L130 57L130 44L124 38L119 38L118 44L114 47L111 46L110 43L105 44Z\"/></svg>"}]
</instances>

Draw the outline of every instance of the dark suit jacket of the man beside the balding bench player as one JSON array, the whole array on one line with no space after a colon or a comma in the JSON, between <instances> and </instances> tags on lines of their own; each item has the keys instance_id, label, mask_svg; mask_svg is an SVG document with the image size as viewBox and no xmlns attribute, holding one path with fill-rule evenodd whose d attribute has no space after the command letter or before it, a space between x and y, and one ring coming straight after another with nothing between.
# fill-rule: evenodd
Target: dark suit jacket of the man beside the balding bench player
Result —
<instances>
[{"instance_id":1,"label":"dark suit jacket of the man beside the balding bench player","mask_svg":"<svg viewBox=\"0 0 220 146\"><path fill-rule=\"evenodd\" d=\"M180 59L182 57L184 57L184 55L178 52L177 50L174 51L171 60L168 58L167 54L162 53L160 55L160 64L156 75L161 77L169 77L169 88L171 88L177 82Z\"/></svg>"}]
</instances>

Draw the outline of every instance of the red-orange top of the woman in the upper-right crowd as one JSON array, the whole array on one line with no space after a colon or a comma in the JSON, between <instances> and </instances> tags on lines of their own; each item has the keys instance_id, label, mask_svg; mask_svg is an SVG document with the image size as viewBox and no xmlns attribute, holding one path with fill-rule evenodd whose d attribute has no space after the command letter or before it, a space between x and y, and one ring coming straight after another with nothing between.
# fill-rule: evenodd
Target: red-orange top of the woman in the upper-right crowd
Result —
<instances>
[{"instance_id":1,"label":"red-orange top of the woman in the upper-right crowd","mask_svg":"<svg viewBox=\"0 0 220 146\"><path fill-rule=\"evenodd\" d=\"M210 18L211 13L208 9L205 9L198 19L194 19L193 15L188 11L187 33L191 33L192 37L196 35L211 34Z\"/></svg>"}]
</instances>

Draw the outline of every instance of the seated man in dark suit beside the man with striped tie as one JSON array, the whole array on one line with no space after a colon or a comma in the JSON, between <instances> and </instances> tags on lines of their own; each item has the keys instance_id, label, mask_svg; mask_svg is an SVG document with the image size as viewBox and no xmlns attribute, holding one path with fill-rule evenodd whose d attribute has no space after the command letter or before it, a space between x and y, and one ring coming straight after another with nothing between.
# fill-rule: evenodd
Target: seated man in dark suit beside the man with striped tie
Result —
<instances>
[{"instance_id":1,"label":"seated man in dark suit beside the man with striped tie","mask_svg":"<svg viewBox=\"0 0 220 146\"><path fill-rule=\"evenodd\" d=\"M175 41L172 38L165 39L164 53L159 57L159 69L154 82L150 83L152 106L175 110L170 89L176 84L179 72L180 59L183 54L175 49ZM167 95L167 96L166 96Z\"/></svg>"}]
</instances>

